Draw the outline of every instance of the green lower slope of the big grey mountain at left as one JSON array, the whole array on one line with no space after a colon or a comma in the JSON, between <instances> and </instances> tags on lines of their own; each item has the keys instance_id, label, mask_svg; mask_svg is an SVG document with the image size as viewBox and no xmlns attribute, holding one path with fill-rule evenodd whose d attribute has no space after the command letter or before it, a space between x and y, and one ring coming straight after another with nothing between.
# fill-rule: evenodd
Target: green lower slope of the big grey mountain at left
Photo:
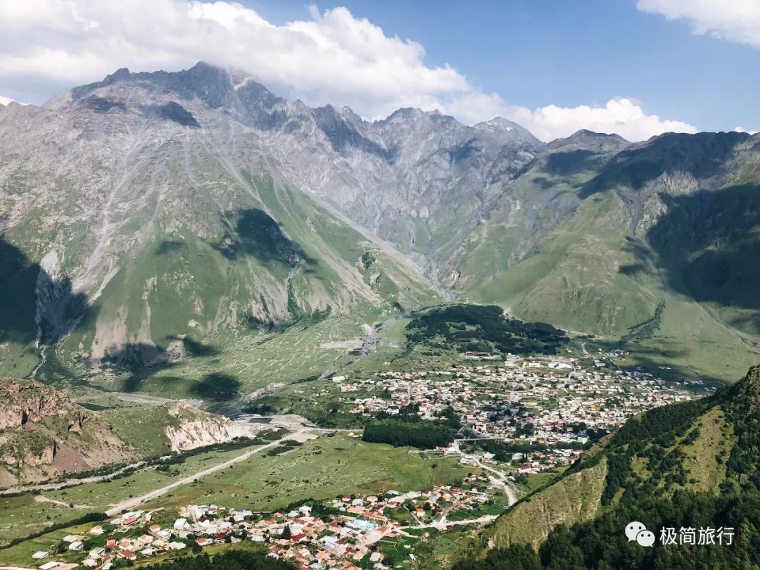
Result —
<instances>
[{"instance_id":1,"label":"green lower slope of the big grey mountain at left","mask_svg":"<svg viewBox=\"0 0 760 570\"><path fill-rule=\"evenodd\" d=\"M364 323L439 299L400 255L306 194L196 160L204 179L173 174L182 216L167 199L154 217L135 214L122 225L135 247L49 351L43 377L235 397L340 366L345 351L322 345L360 338ZM24 338L28 351L32 326ZM229 389L207 389L227 381Z\"/></svg>"}]
</instances>

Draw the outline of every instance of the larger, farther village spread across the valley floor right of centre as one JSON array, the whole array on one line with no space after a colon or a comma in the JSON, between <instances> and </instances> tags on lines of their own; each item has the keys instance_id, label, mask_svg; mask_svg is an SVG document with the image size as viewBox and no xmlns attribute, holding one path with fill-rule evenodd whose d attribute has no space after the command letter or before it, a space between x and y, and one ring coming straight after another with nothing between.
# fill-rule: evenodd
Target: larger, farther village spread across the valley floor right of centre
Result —
<instances>
[{"instance_id":1,"label":"larger, farther village spread across the valley floor right of centre","mask_svg":"<svg viewBox=\"0 0 760 570\"><path fill-rule=\"evenodd\" d=\"M511 444L515 451L496 459L514 467L510 473L515 475L571 464L591 442L629 417L714 391L698 380L666 382L650 372L622 369L616 359L625 353L619 350L583 359L462 356L464 366L332 380L340 403L361 416L393 416L403 410L436 420L453 408L461 419L461 439L442 451L493 448L486 442ZM486 451L483 457L493 460L495 454ZM462 461L472 461L471 456Z\"/></svg>"}]
</instances>

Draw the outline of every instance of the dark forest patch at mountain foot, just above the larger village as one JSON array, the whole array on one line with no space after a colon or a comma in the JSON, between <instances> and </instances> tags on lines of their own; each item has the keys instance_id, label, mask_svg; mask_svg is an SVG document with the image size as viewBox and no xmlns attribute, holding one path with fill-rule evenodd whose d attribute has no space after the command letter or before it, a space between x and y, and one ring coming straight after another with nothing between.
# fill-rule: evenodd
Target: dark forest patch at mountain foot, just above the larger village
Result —
<instances>
[{"instance_id":1,"label":"dark forest patch at mountain foot, just above the larger village","mask_svg":"<svg viewBox=\"0 0 760 570\"><path fill-rule=\"evenodd\" d=\"M543 322L507 318L498 306L437 307L417 314L407 325L409 344L460 352L554 354L567 340L565 331Z\"/></svg>"}]
</instances>

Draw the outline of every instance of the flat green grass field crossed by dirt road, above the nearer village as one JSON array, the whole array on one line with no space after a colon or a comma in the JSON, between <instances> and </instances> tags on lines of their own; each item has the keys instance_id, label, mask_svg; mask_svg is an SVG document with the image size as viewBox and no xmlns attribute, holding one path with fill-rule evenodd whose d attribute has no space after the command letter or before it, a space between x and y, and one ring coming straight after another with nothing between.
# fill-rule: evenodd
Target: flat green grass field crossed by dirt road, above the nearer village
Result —
<instances>
[{"instance_id":1,"label":"flat green grass field crossed by dirt road, above the nearer village","mask_svg":"<svg viewBox=\"0 0 760 570\"><path fill-rule=\"evenodd\" d=\"M189 457L168 471L141 470L109 483L87 483L40 496L0 498L0 533L5 540L23 537L43 527L102 511L130 496L160 488L177 477L221 463L244 450L209 451ZM301 499L331 499L345 493L368 494L388 489L423 489L452 483L476 467L461 466L455 458L409 454L407 448L371 444L338 433L311 440L283 454L254 455L208 479L173 489L144 508L170 508L192 502L269 511ZM53 502L51 502L53 501ZM69 505L74 505L73 507ZM171 518L173 515L166 515ZM29 564L31 553L46 549L70 530L56 530L9 549L0 549L0 562Z\"/></svg>"}]
</instances>

